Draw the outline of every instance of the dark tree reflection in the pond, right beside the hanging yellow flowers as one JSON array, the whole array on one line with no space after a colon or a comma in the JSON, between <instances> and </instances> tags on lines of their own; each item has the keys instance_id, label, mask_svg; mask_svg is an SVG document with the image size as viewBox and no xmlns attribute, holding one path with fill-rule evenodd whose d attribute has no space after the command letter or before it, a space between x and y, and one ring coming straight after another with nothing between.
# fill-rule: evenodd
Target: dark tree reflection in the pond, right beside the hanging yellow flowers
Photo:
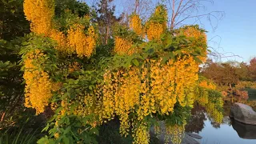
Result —
<instances>
[{"instance_id":1,"label":"dark tree reflection in the pond, right beside the hanging yellow flowers","mask_svg":"<svg viewBox=\"0 0 256 144\"><path fill-rule=\"evenodd\" d=\"M190 121L186 125L186 132L198 133L202 131L204 127L204 121L206 120L206 115L204 114L206 110L199 106L197 103L191 111Z\"/></svg>"}]
</instances>

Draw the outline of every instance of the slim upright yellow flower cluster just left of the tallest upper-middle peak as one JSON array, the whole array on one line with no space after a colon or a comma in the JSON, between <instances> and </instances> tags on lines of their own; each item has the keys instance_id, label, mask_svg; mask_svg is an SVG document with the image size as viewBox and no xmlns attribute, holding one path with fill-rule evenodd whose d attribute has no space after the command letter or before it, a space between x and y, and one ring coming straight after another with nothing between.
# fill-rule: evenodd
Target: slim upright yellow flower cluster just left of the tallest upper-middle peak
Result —
<instances>
[{"instance_id":1,"label":"slim upright yellow flower cluster just left of the tallest upper-middle peak","mask_svg":"<svg viewBox=\"0 0 256 144\"><path fill-rule=\"evenodd\" d=\"M142 20L139 18L138 14L133 14L130 18L130 29L142 37L145 36L144 28L142 26Z\"/></svg>"}]
</instances>

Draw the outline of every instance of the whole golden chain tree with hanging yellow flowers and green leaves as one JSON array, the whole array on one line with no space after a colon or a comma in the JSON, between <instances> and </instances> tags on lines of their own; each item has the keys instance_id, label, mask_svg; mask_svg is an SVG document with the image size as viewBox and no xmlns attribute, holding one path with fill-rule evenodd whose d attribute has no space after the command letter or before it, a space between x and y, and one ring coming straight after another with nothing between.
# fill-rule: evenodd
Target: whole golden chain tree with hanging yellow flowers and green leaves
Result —
<instances>
[{"instance_id":1,"label":"whole golden chain tree with hanging yellow flowers and green leaves","mask_svg":"<svg viewBox=\"0 0 256 144\"><path fill-rule=\"evenodd\" d=\"M180 143L196 101L207 104L216 122L222 121L215 101L208 95L201 98L206 93L198 88L214 89L214 85L198 82L198 66L206 59L206 34L197 26L185 26L172 34L165 6L157 6L145 25L133 14L130 29L114 33L108 58L95 52L98 34L94 23L74 22L66 30L56 28L54 2L49 0L25 0L24 12L32 32L56 42L49 48L35 46L23 57L26 106L35 108L37 114L46 106L56 110L51 136L39 142L63 142L65 138L86 142L83 136L91 134L88 130L117 116L120 134L132 134L134 143L149 143L151 125L159 130L152 118L166 122L166 134L172 135L166 141ZM88 16L80 19L86 18L90 21Z\"/></svg>"}]
</instances>

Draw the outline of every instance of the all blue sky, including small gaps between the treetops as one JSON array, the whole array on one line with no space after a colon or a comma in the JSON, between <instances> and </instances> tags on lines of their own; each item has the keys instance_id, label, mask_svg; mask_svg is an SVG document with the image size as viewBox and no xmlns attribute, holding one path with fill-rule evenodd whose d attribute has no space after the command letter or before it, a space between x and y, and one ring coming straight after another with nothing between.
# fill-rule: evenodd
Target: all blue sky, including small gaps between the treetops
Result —
<instances>
[{"instance_id":1,"label":"all blue sky, including small gaps between the treetops","mask_svg":"<svg viewBox=\"0 0 256 144\"><path fill-rule=\"evenodd\" d=\"M132 0L128 2L130 1ZM155 4L161 0L152 1ZM226 57L218 61L249 62L251 58L256 57L256 0L213 1L214 3L203 3L206 6L203 13L218 10L223 11L224 16L219 21L212 19L212 25L217 26L214 30L207 18L202 18L201 27L208 31L208 46L214 47L214 50ZM117 15L128 7L126 0L114 0L113 4L116 5ZM194 19L191 19L191 22L194 22Z\"/></svg>"}]
</instances>

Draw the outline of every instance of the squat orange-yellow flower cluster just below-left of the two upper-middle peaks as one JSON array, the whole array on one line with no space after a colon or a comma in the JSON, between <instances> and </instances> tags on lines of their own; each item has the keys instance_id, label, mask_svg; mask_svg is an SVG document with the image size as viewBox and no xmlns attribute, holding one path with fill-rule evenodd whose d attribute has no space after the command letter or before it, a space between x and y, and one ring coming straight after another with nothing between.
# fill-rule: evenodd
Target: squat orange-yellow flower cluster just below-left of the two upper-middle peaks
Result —
<instances>
[{"instance_id":1,"label":"squat orange-yellow flower cluster just below-left of the two upper-middle peaks","mask_svg":"<svg viewBox=\"0 0 256 144\"><path fill-rule=\"evenodd\" d=\"M130 40L115 37L114 38L114 52L117 54L134 54L135 48L132 48L133 42Z\"/></svg>"}]
</instances>

